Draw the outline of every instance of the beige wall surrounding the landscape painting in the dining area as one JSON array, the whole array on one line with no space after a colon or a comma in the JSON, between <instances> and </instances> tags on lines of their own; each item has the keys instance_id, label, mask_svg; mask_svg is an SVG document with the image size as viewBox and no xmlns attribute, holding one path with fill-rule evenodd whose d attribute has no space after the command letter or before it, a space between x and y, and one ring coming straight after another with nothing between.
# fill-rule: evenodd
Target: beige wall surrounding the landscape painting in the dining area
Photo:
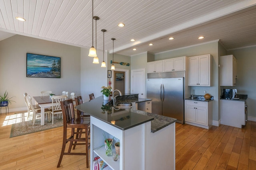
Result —
<instances>
[{"instance_id":1,"label":"beige wall surrounding the landscape painting in the dining area","mask_svg":"<svg viewBox=\"0 0 256 170\"><path fill-rule=\"evenodd\" d=\"M26 53L60 57L61 78L26 77ZM22 35L4 39L0 41L0 80L0 95L7 90L9 97L15 96L16 103L12 102L10 111L26 107L25 92L30 96L40 96L42 90L80 95L80 47Z\"/></svg>"}]
</instances>

